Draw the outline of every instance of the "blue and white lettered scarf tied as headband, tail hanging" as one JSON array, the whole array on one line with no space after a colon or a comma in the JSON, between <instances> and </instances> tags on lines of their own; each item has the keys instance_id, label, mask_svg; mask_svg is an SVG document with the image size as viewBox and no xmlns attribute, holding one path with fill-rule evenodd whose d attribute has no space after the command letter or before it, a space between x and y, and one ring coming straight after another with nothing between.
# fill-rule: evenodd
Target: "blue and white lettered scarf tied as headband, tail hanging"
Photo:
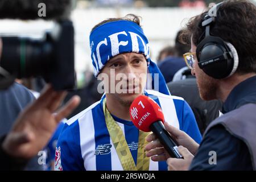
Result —
<instances>
[{"instance_id":1,"label":"blue and white lettered scarf tied as headband, tail hanging","mask_svg":"<svg viewBox=\"0 0 256 182\"><path fill-rule=\"evenodd\" d=\"M159 73L158 91L170 94L162 73L150 59L148 40L137 23L129 20L118 20L98 26L90 33L90 49L94 76L96 77L112 57L126 52L142 53L152 76L154 73Z\"/></svg>"}]
</instances>

